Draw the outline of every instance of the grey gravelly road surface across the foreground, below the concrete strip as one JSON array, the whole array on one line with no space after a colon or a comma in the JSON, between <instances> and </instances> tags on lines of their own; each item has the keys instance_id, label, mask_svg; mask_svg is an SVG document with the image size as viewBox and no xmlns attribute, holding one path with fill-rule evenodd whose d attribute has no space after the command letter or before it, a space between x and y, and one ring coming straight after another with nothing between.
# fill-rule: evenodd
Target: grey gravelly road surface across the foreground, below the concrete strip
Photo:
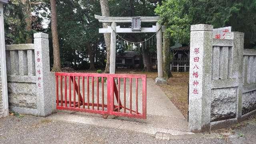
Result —
<instances>
[{"instance_id":1,"label":"grey gravelly road surface across the foreground, below the concrete strip","mask_svg":"<svg viewBox=\"0 0 256 144\"><path fill-rule=\"evenodd\" d=\"M156 140L154 136L36 116L0 118L0 144L228 144L224 139Z\"/></svg>"}]
</instances>

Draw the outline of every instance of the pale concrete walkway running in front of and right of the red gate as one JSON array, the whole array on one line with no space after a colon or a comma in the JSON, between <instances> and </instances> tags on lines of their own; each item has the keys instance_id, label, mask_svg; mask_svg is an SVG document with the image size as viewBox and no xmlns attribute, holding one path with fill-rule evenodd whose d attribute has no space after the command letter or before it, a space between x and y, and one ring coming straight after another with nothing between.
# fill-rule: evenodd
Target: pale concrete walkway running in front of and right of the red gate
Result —
<instances>
[{"instance_id":1,"label":"pale concrete walkway running in front of and right of the red gate","mask_svg":"<svg viewBox=\"0 0 256 144\"><path fill-rule=\"evenodd\" d=\"M122 84L122 82L120 83ZM122 96L122 94L120 95ZM104 119L100 114L72 111L58 111L48 118L70 123L92 124L131 130L152 135L158 132L171 135L192 134L188 132L187 119L184 118L181 112L166 97L164 92L154 84L154 80L149 78L147 79L146 120L118 116L109 116L108 119Z\"/></svg>"}]
</instances>

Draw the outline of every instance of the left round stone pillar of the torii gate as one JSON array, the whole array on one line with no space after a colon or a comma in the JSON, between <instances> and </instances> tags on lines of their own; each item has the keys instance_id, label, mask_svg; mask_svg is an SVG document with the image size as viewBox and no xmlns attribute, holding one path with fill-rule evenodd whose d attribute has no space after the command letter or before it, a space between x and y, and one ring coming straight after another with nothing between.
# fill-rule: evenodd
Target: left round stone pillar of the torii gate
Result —
<instances>
[{"instance_id":1,"label":"left round stone pillar of the torii gate","mask_svg":"<svg viewBox=\"0 0 256 144\"><path fill-rule=\"evenodd\" d=\"M116 72L116 22L111 23L111 43L110 43L110 66L109 73L114 74Z\"/></svg>"}]
</instances>

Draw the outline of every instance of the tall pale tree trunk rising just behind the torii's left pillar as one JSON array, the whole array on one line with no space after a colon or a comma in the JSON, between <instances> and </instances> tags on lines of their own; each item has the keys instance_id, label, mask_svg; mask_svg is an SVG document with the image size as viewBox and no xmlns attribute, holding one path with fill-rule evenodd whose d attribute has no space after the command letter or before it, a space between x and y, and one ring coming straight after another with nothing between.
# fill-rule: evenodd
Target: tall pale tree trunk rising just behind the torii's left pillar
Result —
<instances>
[{"instance_id":1,"label":"tall pale tree trunk rising just behind the torii's left pillar","mask_svg":"<svg viewBox=\"0 0 256 144\"><path fill-rule=\"evenodd\" d=\"M110 16L109 8L108 8L108 0L100 0L100 8L102 16ZM110 23L102 23L103 28L107 28L110 26ZM107 52L107 61L105 73L109 73L109 65L110 65L110 33L104 33L104 39L106 44L106 52Z\"/></svg>"}]
</instances>

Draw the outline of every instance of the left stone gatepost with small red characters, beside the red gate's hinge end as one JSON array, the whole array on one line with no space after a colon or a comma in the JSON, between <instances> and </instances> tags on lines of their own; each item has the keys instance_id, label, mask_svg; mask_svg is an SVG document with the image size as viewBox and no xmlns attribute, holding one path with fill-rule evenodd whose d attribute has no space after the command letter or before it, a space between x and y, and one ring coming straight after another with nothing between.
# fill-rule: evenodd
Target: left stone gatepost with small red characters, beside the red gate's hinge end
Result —
<instances>
[{"instance_id":1,"label":"left stone gatepost with small red characters, beside the red gate's hinge end","mask_svg":"<svg viewBox=\"0 0 256 144\"><path fill-rule=\"evenodd\" d=\"M54 110L54 74L50 72L48 34L34 34L36 94L38 116L48 116Z\"/></svg>"}]
</instances>

